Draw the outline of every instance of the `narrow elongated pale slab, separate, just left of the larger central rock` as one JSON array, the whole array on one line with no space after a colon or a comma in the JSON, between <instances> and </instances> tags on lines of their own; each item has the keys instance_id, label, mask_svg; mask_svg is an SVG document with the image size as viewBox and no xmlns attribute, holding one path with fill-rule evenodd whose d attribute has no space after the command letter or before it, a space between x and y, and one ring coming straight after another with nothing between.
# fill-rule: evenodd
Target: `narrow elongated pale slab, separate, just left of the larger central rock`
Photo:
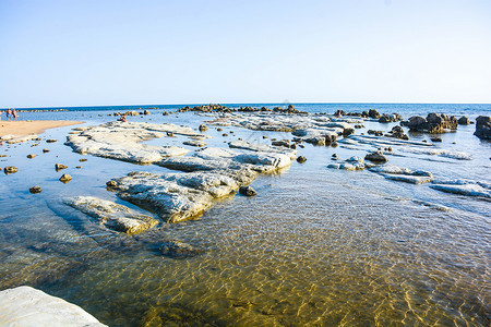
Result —
<instances>
[{"instance_id":1,"label":"narrow elongated pale slab, separate, just left of the larger central rock","mask_svg":"<svg viewBox=\"0 0 491 327\"><path fill-rule=\"evenodd\" d=\"M127 206L93 196L75 196L63 203L96 218L107 228L128 234L139 233L158 223L149 216L139 214Z\"/></svg>"}]
</instances>

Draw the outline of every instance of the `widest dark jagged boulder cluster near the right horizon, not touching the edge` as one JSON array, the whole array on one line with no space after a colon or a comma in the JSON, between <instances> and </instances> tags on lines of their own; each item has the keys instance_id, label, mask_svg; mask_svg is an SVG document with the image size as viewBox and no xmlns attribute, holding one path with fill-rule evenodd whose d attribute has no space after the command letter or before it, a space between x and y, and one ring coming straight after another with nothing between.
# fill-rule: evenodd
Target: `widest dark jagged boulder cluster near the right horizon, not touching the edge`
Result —
<instances>
[{"instance_id":1,"label":"widest dark jagged boulder cluster near the right horizon, not touching the edge","mask_svg":"<svg viewBox=\"0 0 491 327\"><path fill-rule=\"evenodd\" d=\"M410 117L407 122L403 122L402 124L408 126L411 132L436 134L456 130L458 122L453 116L448 117L444 113L429 113L426 119L414 116Z\"/></svg>"}]
</instances>

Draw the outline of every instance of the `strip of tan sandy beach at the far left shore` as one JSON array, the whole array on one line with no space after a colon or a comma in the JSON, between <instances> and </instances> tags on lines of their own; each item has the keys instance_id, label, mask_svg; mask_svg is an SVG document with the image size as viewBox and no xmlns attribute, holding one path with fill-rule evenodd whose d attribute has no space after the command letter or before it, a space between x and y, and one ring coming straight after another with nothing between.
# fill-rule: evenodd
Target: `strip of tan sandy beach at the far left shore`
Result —
<instances>
[{"instance_id":1,"label":"strip of tan sandy beach at the far left shore","mask_svg":"<svg viewBox=\"0 0 491 327\"><path fill-rule=\"evenodd\" d=\"M4 135L24 136L29 134L39 134L48 129L69 126L81 123L83 122L64 121L64 120L1 121L0 136Z\"/></svg>"}]
</instances>

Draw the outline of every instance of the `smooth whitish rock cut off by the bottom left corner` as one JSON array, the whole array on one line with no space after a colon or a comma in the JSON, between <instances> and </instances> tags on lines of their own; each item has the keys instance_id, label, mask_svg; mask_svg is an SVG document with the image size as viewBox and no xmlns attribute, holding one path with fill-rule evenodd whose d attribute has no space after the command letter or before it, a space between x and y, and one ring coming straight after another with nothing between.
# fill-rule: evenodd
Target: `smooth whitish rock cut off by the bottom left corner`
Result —
<instances>
[{"instance_id":1,"label":"smooth whitish rock cut off by the bottom left corner","mask_svg":"<svg viewBox=\"0 0 491 327\"><path fill-rule=\"evenodd\" d=\"M31 287L0 292L1 326L106 326L80 306Z\"/></svg>"}]
</instances>

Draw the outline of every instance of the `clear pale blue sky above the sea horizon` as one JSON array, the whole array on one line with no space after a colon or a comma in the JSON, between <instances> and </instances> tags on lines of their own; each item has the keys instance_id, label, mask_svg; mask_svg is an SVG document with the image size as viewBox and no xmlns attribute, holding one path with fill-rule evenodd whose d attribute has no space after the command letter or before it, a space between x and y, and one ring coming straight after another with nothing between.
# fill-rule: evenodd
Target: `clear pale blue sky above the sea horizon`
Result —
<instances>
[{"instance_id":1,"label":"clear pale blue sky above the sea horizon","mask_svg":"<svg viewBox=\"0 0 491 327\"><path fill-rule=\"evenodd\" d=\"M0 108L491 102L490 0L0 0Z\"/></svg>"}]
</instances>

